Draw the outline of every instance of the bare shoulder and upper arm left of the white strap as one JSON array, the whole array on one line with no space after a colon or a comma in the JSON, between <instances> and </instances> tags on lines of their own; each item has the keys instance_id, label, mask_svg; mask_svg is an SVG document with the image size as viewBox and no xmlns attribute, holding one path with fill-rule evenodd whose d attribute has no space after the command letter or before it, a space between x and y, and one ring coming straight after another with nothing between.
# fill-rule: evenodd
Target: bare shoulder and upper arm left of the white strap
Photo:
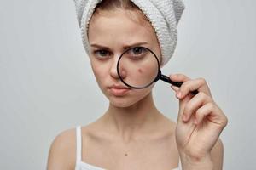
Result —
<instances>
[{"instance_id":1,"label":"bare shoulder and upper arm left of the white strap","mask_svg":"<svg viewBox=\"0 0 256 170\"><path fill-rule=\"evenodd\" d=\"M59 133L49 148L47 170L74 169L76 161L75 128Z\"/></svg>"}]
</instances>

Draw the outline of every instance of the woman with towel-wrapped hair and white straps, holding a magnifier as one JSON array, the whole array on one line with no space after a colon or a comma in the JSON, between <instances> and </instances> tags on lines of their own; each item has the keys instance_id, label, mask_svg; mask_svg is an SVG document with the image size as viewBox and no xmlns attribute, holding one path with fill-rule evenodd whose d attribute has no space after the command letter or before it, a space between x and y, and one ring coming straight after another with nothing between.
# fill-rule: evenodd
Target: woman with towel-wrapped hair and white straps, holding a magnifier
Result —
<instances>
[{"instance_id":1,"label":"woman with towel-wrapped hair and white straps, holding a magnifier","mask_svg":"<svg viewBox=\"0 0 256 170\"><path fill-rule=\"evenodd\" d=\"M213 101L203 78L170 76L183 82L171 86L179 99L177 123L154 105L152 88L127 88L116 65L125 49L140 54L149 48L161 66L172 56L177 22L183 12L179 0L75 1L84 48L96 81L109 100L108 111L83 127L59 134L49 150L47 168L167 170L214 169L223 165L219 135L227 117ZM125 79L125 75L121 75ZM191 91L198 94L191 94ZM88 113L90 114L90 113Z\"/></svg>"}]
</instances>

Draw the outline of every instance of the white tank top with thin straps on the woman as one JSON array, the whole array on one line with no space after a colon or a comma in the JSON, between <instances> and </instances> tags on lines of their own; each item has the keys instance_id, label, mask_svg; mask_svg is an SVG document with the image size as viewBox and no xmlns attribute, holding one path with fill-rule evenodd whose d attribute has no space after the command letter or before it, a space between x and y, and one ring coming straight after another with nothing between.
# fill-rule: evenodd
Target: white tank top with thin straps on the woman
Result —
<instances>
[{"instance_id":1,"label":"white tank top with thin straps on the woman","mask_svg":"<svg viewBox=\"0 0 256 170\"><path fill-rule=\"evenodd\" d=\"M96 167L95 165L91 165L82 161L82 138L81 138L81 127L76 127L76 136L77 136L77 160L76 160L76 167L75 170L106 170L103 167ZM172 170L181 170L180 167L180 159L178 162L178 167Z\"/></svg>"}]
</instances>

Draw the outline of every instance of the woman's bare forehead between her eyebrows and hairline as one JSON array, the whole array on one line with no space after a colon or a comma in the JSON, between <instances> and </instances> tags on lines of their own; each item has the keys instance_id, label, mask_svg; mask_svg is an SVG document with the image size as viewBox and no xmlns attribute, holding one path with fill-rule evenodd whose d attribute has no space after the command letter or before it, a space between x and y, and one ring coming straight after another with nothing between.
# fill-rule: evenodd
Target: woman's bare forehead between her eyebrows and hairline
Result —
<instances>
[{"instance_id":1,"label":"woman's bare forehead between her eyebrows and hairline","mask_svg":"<svg viewBox=\"0 0 256 170\"><path fill-rule=\"evenodd\" d=\"M124 9L94 14L88 31L89 42L116 47L143 41L154 46L157 42L154 29L148 21L137 20L139 14Z\"/></svg>"}]
</instances>

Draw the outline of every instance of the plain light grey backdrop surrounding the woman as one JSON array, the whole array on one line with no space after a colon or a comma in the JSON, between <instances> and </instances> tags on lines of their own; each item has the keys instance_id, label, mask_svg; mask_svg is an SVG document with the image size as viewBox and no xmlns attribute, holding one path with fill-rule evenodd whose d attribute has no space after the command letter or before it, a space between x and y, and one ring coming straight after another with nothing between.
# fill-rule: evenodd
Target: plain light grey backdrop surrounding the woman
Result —
<instances>
[{"instance_id":1,"label":"plain light grey backdrop surrounding the woman","mask_svg":"<svg viewBox=\"0 0 256 170\"><path fill-rule=\"evenodd\" d=\"M229 118L224 169L255 169L256 2L185 0L176 52L163 72L204 77ZM73 0L0 2L0 169L45 169L58 133L108 107L82 46ZM178 101L154 99L174 121Z\"/></svg>"}]
</instances>

